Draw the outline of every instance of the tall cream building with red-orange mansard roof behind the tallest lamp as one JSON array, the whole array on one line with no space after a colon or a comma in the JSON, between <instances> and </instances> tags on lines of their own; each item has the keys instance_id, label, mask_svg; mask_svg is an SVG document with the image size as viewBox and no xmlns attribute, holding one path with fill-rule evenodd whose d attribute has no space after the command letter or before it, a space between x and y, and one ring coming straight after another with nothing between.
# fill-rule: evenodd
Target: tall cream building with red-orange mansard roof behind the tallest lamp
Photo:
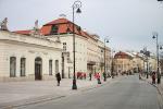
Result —
<instances>
[{"instance_id":1,"label":"tall cream building with red-orange mansard roof behind the tallest lamp","mask_svg":"<svg viewBox=\"0 0 163 109\"><path fill-rule=\"evenodd\" d=\"M75 72L96 73L103 72L104 69L104 43L98 35L91 35L82 29L80 26L74 25L75 28ZM62 75L70 76L73 72L73 23L66 19L58 19L45 24L41 28L41 34L47 37L55 35L61 38L63 44L62 57ZM68 55L68 57L67 57ZM110 48L105 47L105 65L110 65ZM108 57L108 58L106 58ZM71 62L67 64L66 59ZM103 61L101 60L103 58ZM103 68L103 69L101 69ZM110 68L110 66L106 66Z\"/></svg>"}]
</instances>

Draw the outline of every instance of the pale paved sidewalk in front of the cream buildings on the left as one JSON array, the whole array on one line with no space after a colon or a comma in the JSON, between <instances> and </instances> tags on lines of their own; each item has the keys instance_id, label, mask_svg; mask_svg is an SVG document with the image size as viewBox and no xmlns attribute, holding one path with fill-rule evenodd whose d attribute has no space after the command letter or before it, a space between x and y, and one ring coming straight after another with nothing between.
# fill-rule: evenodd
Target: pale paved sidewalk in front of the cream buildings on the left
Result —
<instances>
[{"instance_id":1,"label":"pale paved sidewalk in front of the cream buildings on the left","mask_svg":"<svg viewBox=\"0 0 163 109\"><path fill-rule=\"evenodd\" d=\"M72 78L63 78L60 86L57 86L55 80L0 83L0 109L12 109L18 106L59 99L100 87L111 80L102 81L102 84L97 84L95 78L92 81L77 80L77 90L72 90Z\"/></svg>"}]
</instances>

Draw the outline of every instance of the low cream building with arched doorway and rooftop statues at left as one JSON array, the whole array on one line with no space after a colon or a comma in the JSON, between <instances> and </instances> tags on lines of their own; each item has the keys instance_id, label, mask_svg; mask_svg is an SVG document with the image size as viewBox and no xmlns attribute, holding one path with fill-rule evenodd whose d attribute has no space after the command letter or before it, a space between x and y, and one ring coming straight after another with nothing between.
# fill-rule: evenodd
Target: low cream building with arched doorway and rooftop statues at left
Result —
<instances>
[{"instance_id":1,"label":"low cream building with arched doorway and rooftop statues at left","mask_svg":"<svg viewBox=\"0 0 163 109\"><path fill-rule=\"evenodd\" d=\"M61 53L57 38L0 31L0 81L53 78L61 72Z\"/></svg>"}]
</instances>

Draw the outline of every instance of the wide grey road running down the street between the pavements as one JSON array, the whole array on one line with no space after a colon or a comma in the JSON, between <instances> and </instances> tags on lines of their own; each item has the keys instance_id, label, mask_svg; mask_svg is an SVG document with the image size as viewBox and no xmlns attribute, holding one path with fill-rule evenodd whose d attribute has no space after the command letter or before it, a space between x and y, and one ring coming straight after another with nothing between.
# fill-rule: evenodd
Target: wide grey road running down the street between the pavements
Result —
<instances>
[{"instance_id":1,"label":"wide grey road running down the street between the pavements","mask_svg":"<svg viewBox=\"0 0 163 109\"><path fill-rule=\"evenodd\" d=\"M75 90L73 90L75 92ZM20 107L18 109L161 109L156 88L139 81L137 75L115 78L96 89Z\"/></svg>"}]
</instances>

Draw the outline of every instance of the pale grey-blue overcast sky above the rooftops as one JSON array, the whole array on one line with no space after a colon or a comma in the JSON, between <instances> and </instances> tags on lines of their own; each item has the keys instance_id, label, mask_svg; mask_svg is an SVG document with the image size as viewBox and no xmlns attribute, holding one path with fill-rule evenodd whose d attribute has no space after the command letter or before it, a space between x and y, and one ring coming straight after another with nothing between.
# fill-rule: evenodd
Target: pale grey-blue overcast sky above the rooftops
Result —
<instances>
[{"instance_id":1,"label":"pale grey-blue overcast sky above the rooftops","mask_svg":"<svg viewBox=\"0 0 163 109\"><path fill-rule=\"evenodd\" d=\"M75 0L0 0L0 21L8 17L9 29L29 29L36 20L39 26L65 14L72 21ZM156 0L80 0L82 14L75 23L115 50L137 50L143 47L155 51L152 32L159 33L163 44L163 3Z\"/></svg>"}]
</instances>

